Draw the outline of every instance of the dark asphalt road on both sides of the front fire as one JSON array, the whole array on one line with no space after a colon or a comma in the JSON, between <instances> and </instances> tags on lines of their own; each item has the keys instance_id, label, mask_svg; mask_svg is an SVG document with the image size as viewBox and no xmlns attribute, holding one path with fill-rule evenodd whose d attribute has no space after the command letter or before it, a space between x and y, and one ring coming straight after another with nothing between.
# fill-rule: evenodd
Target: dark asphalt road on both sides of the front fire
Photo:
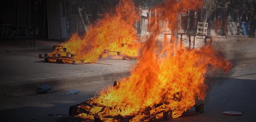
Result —
<instances>
[{"instance_id":1,"label":"dark asphalt road on both sides of the front fire","mask_svg":"<svg viewBox=\"0 0 256 122\"><path fill-rule=\"evenodd\" d=\"M70 122L67 117L70 105L94 96L112 82L97 82L80 86L80 93L66 95L66 90L50 94L1 97L1 122ZM204 113L172 119L166 122L256 122L256 80L208 77ZM223 111L244 111L243 116L225 116Z\"/></svg>"}]
</instances>

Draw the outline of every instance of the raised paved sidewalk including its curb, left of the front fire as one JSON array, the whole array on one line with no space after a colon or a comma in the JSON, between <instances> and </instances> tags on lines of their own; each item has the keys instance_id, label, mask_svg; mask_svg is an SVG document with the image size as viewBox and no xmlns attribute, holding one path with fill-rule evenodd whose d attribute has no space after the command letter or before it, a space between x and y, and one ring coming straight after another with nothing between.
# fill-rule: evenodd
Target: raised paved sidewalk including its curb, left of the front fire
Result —
<instances>
[{"instance_id":1,"label":"raised paved sidewalk including its curb, left of the front fire","mask_svg":"<svg viewBox=\"0 0 256 122\"><path fill-rule=\"evenodd\" d=\"M94 64L70 65L47 63L38 58L38 54L50 51L1 52L4 58L0 60L0 94L36 90L43 84L59 88L102 80L117 81L129 75L129 67L135 62L100 60Z\"/></svg>"}]
</instances>

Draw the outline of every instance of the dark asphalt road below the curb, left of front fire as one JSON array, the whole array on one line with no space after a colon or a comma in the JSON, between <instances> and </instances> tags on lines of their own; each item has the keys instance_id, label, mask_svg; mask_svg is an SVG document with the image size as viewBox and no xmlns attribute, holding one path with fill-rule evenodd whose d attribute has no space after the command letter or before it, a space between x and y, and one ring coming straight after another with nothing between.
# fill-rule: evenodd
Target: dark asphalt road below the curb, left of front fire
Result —
<instances>
[{"instance_id":1,"label":"dark asphalt road below the curb, left of front fire","mask_svg":"<svg viewBox=\"0 0 256 122\"><path fill-rule=\"evenodd\" d=\"M58 116L67 115L69 106L85 101L94 96L96 91L105 86L113 85L112 81L90 82L86 85L69 87L62 90L53 89L50 94L25 94L15 97L0 97L1 122L55 122ZM78 89L80 93L67 95L67 90ZM66 118L64 118L65 120ZM59 121L70 122L70 121Z\"/></svg>"}]
</instances>

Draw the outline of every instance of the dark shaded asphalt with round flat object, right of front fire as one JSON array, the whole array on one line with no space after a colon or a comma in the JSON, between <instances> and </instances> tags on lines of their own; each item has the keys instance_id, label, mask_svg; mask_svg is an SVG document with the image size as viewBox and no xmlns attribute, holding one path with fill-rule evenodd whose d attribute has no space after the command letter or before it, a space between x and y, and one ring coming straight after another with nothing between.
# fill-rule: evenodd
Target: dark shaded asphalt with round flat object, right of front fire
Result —
<instances>
[{"instance_id":1,"label":"dark shaded asphalt with round flat object, right of front fire","mask_svg":"<svg viewBox=\"0 0 256 122\"><path fill-rule=\"evenodd\" d=\"M165 122L256 122L256 80L207 77L204 112ZM226 116L224 111L243 111L243 116Z\"/></svg>"}]
</instances>

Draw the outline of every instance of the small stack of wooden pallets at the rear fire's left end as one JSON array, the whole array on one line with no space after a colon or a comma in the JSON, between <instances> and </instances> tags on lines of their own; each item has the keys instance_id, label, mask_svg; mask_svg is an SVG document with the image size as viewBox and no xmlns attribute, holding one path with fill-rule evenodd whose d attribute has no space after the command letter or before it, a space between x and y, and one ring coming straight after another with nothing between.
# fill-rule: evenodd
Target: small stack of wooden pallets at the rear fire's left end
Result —
<instances>
[{"instance_id":1,"label":"small stack of wooden pallets at the rear fire's left end","mask_svg":"<svg viewBox=\"0 0 256 122\"><path fill-rule=\"evenodd\" d=\"M86 64L84 60L75 60L75 55L67 52L66 48L60 45L53 46L53 53L38 54L39 58L44 58L46 62L66 63L66 64Z\"/></svg>"}]
</instances>

